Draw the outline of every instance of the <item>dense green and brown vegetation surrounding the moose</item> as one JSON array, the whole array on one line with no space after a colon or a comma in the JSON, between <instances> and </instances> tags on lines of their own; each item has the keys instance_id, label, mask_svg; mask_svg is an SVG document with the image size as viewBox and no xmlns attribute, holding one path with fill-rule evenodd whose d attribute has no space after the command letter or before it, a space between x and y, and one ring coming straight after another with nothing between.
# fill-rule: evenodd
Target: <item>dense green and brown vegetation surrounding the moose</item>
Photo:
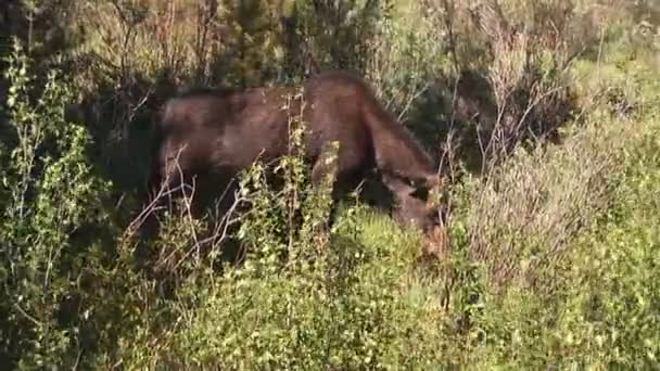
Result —
<instances>
[{"instance_id":1,"label":"dense green and brown vegetation surrounding the moose","mask_svg":"<svg viewBox=\"0 0 660 371\"><path fill-rule=\"evenodd\" d=\"M655 1L18 0L0 12L0 364L660 367ZM331 197L295 156L281 189L258 164L243 175L240 227L192 219L183 200L148 209L157 234L137 232L168 94L329 68L370 81L452 175L442 259L358 199L328 228ZM241 265L220 254L236 240Z\"/></svg>"}]
</instances>

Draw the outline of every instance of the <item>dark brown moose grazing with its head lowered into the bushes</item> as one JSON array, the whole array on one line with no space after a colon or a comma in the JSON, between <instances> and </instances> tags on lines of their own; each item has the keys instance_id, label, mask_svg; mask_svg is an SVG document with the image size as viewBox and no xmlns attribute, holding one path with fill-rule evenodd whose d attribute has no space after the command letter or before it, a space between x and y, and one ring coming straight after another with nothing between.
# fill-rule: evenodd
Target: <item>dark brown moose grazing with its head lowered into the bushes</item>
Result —
<instances>
[{"instance_id":1,"label":"dark brown moose grazing with its head lowered into the bushes","mask_svg":"<svg viewBox=\"0 0 660 371\"><path fill-rule=\"evenodd\" d=\"M299 91L302 99L291 100ZM396 220L420 228L428 252L444 247L437 205L416 195L441 184L431 156L367 82L343 71L315 75L302 90L201 88L168 99L155 127L149 189L176 188L194 178L199 208L202 194L220 190L255 161L274 162L288 153L291 112L300 112L305 123L304 156L314 186L331 175L337 200L377 172L392 192ZM323 153L332 142L339 149L331 169Z\"/></svg>"}]
</instances>

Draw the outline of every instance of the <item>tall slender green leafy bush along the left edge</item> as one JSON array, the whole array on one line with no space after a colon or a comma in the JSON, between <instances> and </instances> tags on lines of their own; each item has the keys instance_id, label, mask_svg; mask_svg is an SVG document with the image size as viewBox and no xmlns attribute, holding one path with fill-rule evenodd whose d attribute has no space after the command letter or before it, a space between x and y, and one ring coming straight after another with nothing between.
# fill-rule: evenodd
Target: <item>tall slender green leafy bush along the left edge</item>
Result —
<instances>
[{"instance_id":1,"label":"tall slender green leafy bush along the left edge","mask_svg":"<svg viewBox=\"0 0 660 371\"><path fill-rule=\"evenodd\" d=\"M13 141L1 157L2 353L22 367L45 367L76 351L76 329L61 310L78 290L80 248L91 246L75 234L104 220L99 201L107 184L86 158L85 127L64 118L72 90L61 74L36 86L20 43L8 64Z\"/></svg>"}]
</instances>

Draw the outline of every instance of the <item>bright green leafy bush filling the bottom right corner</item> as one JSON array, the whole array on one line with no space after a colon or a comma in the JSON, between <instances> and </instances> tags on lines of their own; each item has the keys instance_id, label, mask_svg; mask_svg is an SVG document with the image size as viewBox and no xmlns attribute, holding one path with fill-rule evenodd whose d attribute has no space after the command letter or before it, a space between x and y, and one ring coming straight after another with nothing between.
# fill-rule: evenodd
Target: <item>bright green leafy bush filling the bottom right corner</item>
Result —
<instances>
[{"instance_id":1,"label":"bright green leafy bush filling the bottom right corner","mask_svg":"<svg viewBox=\"0 0 660 371\"><path fill-rule=\"evenodd\" d=\"M474 353L481 367L658 366L658 190L650 186L658 143L645 132L625 153L618 175L625 182L607 212L591 219L560 259L544 261L545 279L484 299L479 325L487 335Z\"/></svg>"}]
</instances>

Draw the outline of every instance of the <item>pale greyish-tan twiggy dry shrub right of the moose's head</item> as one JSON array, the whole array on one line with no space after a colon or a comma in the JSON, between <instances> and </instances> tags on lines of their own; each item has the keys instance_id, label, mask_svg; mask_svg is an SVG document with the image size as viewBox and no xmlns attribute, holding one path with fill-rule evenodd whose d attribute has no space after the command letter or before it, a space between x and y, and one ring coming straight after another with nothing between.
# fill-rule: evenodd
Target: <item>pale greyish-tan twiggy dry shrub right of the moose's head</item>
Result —
<instances>
[{"instance_id":1,"label":"pale greyish-tan twiggy dry shrub right of the moose's head","mask_svg":"<svg viewBox=\"0 0 660 371\"><path fill-rule=\"evenodd\" d=\"M481 183L468 212L470 255L495 283L534 279L608 207L633 121L591 123L561 148L520 151Z\"/></svg>"}]
</instances>

